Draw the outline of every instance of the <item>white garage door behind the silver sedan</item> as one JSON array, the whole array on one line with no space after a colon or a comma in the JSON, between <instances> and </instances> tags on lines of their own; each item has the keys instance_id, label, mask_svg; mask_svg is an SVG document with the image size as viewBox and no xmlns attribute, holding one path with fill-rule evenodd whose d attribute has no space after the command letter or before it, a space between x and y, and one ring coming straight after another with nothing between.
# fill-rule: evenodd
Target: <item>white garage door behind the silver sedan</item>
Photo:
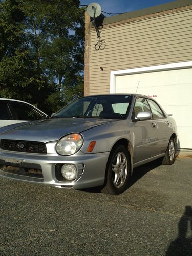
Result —
<instances>
[{"instance_id":1,"label":"white garage door behind the silver sedan","mask_svg":"<svg viewBox=\"0 0 192 256\"><path fill-rule=\"evenodd\" d=\"M139 84L139 86L138 86ZM192 149L192 69L118 75L116 93L145 94L157 100L177 122L179 148Z\"/></svg>"}]
</instances>

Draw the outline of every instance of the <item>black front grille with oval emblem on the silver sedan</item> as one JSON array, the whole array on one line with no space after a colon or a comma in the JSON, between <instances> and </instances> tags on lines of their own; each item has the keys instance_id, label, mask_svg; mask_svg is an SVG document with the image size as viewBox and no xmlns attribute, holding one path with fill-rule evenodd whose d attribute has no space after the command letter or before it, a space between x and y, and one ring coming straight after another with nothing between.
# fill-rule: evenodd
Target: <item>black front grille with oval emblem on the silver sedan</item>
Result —
<instances>
[{"instance_id":1,"label":"black front grille with oval emblem on the silver sedan","mask_svg":"<svg viewBox=\"0 0 192 256\"><path fill-rule=\"evenodd\" d=\"M0 148L2 150L11 150L18 152L30 152L46 154L47 149L45 143L36 141L22 140L1 140Z\"/></svg>"}]
</instances>

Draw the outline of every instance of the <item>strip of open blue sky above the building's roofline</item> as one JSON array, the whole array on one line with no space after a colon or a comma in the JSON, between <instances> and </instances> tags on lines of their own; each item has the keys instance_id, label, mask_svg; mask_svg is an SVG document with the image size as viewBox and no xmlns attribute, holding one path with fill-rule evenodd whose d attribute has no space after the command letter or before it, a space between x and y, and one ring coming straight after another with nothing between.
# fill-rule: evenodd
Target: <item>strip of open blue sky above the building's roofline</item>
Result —
<instances>
[{"instance_id":1,"label":"strip of open blue sky above the building's roofline","mask_svg":"<svg viewBox=\"0 0 192 256\"><path fill-rule=\"evenodd\" d=\"M98 3L104 12L123 13L173 2L173 0L80 0L81 5L89 5L93 2ZM109 16L105 13L103 14Z\"/></svg>"}]
</instances>

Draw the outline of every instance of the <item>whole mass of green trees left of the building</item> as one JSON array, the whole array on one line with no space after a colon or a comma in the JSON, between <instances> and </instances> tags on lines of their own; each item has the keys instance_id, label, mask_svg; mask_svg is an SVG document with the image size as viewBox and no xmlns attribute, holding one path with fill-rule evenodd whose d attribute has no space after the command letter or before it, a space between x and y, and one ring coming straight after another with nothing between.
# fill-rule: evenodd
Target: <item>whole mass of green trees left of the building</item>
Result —
<instances>
[{"instance_id":1,"label":"whole mass of green trees left of the building","mask_svg":"<svg viewBox=\"0 0 192 256\"><path fill-rule=\"evenodd\" d=\"M0 97L50 113L82 96L79 0L5 0L0 7Z\"/></svg>"}]
</instances>

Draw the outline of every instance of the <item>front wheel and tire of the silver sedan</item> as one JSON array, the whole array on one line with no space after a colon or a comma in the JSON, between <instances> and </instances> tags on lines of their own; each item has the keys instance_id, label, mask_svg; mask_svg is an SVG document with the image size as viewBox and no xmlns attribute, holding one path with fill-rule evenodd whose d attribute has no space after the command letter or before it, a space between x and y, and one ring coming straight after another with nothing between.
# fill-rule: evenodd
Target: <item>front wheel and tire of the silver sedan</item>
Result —
<instances>
[{"instance_id":1,"label":"front wheel and tire of the silver sedan","mask_svg":"<svg viewBox=\"0 0 192 256\"><path fill-rule=\"evenodd\" d=\"M121 194L128 186L129 176L129 154L124 146L119 145L110 153L102 192L111 195Z\"/></svg>"}]
</instances>

